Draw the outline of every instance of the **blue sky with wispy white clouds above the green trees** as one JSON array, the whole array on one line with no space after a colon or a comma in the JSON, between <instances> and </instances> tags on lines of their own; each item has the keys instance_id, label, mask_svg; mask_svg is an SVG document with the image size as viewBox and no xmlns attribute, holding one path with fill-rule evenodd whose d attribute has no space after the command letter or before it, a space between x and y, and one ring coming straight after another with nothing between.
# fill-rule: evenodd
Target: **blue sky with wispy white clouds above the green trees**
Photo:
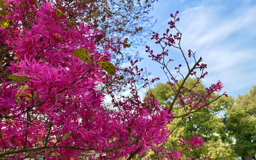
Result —
<instances>
[{"instance_id":1,"label":"blue sky with wispy white clouds above the green trees","mask_svg":"<svg viewBox=\"0 0 256 160\"><path fill-rule=\"evenodd\" d=\"M256 84L256 0L159 0L150 13L157 24L153 31L165 32L170 13L179 11L178 29L182 32L182 49L196 51L207 64L206 87L221 80L223 91L235 98ZM161 49L148 41L154 50ZM160 82L167 79L160 65L151 61L145 46L136 48L144 58L139 65L147 68ZM184 64L177 50L171 50L173 69Z\"/></svg>"}]
</instances>

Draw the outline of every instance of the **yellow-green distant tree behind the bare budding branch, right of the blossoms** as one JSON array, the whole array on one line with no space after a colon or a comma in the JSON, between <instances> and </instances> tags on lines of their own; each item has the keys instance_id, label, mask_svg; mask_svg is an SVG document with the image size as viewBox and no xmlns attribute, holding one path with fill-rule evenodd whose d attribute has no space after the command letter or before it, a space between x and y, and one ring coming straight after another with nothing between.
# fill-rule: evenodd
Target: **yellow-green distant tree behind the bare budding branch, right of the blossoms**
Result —
<instances>
[{"instance_id":1,"label":"yellow-green distant tree behind the bare budding branch, right of the blossoms","mask_svg":"<svg viewBox=\"0 0 256 160\"><path fill-rule=\"evenodd\" d=\"M180 84L182 80L178 82ZM201 81L197 79L189 78L184 87L192 88L193 85L196 84L192 90L194 92L198 92L199 94L205 94L205 88ZM148 91L149 93L150 91ZM170 88L169 84L158 83L155 88L151 89L151 92L155 99L157 99L159 105L168 106L169 100L173 99L174 92ZM187 93L184 93L187 94ZM212 95L212 98L215 98L219 95ZM211 99L207 101L210 102ZM205 142L205 148L208 148L209 155L211 158L215 160L227 160L228 158L235 158L235 152L229 145L229 141L225 125L223 120L220 118L221 114L225 112L227 106L232 104L234 100L232 97L221 97L212 104L208 106L208 108L202 108L196 113L192 113L186 118L178 117L173 120L172 123L169 124L169 129L172 131L170 134L170 139L168 143L165 143L165 146L172 146L173 148L178 148L180 144L178 144L179 139L189 139L193 135L198 135L203 137ZM173 113L175 115L184 114L183 107L179 105L173 106ZM196 152L197 157L202 154L200 151Z\"/></svg>"}]
</instances>

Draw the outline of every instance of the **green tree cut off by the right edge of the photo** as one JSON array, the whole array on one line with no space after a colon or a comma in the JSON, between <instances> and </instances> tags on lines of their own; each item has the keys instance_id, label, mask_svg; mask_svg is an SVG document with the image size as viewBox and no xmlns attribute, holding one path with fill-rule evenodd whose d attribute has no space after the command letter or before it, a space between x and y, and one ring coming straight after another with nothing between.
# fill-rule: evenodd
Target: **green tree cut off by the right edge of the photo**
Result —
<instances>
[{"instance_id":1,"label":"green tree cut off by the right edge of the photo","mask_svg":"<svg viewBox=\"0 0 256 160\"><path fill-rule=\"evenodd\" d=\"M256 85L227 108L226 126L235 138L235 153L253 157L256 153Z\"/></svg>"}]
</instances>

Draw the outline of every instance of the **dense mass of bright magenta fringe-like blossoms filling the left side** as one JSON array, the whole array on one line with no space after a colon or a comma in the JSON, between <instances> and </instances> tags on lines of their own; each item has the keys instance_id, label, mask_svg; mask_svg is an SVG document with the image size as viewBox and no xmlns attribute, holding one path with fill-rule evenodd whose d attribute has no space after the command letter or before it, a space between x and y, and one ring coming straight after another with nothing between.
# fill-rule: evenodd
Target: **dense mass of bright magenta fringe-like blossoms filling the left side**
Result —
<instances>
[{"instance_id":1,"label":"dense mass of bright magenta fringe-like blossoms filling the left side","mask_svg":"<svg viewBox=\"0 0 256 160\"><path fill-rule=\"evenodd\" d=\"M10 21L0 33L17 57L8 69L28 79L2 79L0 157L115 160L167 141L173 114L155 101L145 108L136 96L120 100L114 110L103 107L98 84L106 73L99 61L111 56L97 52L91 26L70 27L68 15L50 3L6 1L0 19ZM91 53L90 63L72 56L77 48Z\"/></svg>"}]
</instances>

